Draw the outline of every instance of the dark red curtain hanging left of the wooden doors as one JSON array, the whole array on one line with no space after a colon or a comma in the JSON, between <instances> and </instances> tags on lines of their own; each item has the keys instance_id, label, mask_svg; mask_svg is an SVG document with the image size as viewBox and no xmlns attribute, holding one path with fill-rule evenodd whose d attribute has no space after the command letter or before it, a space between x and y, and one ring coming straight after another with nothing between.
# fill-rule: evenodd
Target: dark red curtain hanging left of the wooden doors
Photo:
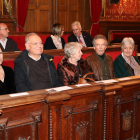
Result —
<instances>
[{"instance_id":1,"label":"dark red curtain hanging left of the wooden doors","mask_svg":"<svg viewBox=\"0 0 140 140\"><path fill-rule=\"evenodd\" d=\"M24 27L26 21L28 4L29 0L17 0L17 23L21 27ZM17 31L23 31L23 29L17 27Z\"/></svg>"}]
</instances>

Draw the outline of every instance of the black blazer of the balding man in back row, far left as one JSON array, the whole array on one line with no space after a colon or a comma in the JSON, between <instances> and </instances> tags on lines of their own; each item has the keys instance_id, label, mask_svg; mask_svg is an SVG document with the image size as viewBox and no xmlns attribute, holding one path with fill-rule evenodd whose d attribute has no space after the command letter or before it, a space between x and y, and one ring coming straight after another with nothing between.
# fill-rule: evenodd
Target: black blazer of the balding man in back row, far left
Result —
<instances>
[{"instance_id":1,"label":"black blazer of the balding man in back row, far left","mask_svg":"<svg viewBox=\"0 0 140 140\"><path fill-rule=\"evenodd\" d=\"M2 47L2 52L12 52L12 51L20 51L17 47L17 43L12 40L11 38L7 38L7 43L5 49L0 43L0 46Z\"/></svg>"}]
</instances>

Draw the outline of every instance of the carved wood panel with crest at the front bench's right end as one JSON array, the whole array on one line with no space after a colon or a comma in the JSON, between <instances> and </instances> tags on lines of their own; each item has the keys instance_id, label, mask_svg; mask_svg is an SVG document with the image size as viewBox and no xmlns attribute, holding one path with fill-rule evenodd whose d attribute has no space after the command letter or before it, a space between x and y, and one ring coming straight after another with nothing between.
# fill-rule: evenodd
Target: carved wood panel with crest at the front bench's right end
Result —
<instances>
[{"instance_id":1,"label":"carved wood panel with crest at the front bench's right end","mask_svg":"<svg viewBox=\"0 0 140 140\"><path fill-rule=\"evenodd\" d=\"M116 139L137 140L140 134L136 125L140 92L131 90L129 94L124 95L114 98L114 135Z\"/></svg>"}]
</instances>

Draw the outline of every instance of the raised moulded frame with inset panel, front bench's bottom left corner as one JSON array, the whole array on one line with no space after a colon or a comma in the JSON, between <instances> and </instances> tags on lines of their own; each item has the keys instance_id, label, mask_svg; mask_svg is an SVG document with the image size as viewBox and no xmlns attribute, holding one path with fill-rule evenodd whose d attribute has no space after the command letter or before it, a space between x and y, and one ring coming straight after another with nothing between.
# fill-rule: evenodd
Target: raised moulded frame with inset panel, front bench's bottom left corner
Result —
<instances>
[{"instance_id":1,"label":"raised moulded frame with inset panel, front bench's bottom left corner","mask_svg":"<svg viewBox=\"0 0 140 140\"><path fill-rule=\"evenodd\" d=\"M31 112L30 118L23 118L22 120L13 120L9 121L9 119L0 120L0 130L1 133L5 134L5 140L7 139L37 139L37 127L39 122L41 122L42 113L39 112ZM28 130L28 131L23 131ZM16 134L16 135L15 135Z\"/></svg>"}]
</instances>

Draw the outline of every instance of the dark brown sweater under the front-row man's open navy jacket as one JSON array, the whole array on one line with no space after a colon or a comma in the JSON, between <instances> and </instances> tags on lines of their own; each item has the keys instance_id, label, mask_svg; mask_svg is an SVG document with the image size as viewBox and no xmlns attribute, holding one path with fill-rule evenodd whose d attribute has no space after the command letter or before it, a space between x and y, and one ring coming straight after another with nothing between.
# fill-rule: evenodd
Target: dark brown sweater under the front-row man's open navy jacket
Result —
<instances>
[{"instance_id":1,"label":"dark brown sweater under the front-row man's open navy jacket","mask_svg":"<svg viewBox=\"0 0 140 140\"><path fill-rule=\"evenodd\" d=\"M48 66L43 57L38 61L27 57L29 69L29 81L31 90L51 88L51 79L48 71Z\"/></svg>"}]
</instances>

